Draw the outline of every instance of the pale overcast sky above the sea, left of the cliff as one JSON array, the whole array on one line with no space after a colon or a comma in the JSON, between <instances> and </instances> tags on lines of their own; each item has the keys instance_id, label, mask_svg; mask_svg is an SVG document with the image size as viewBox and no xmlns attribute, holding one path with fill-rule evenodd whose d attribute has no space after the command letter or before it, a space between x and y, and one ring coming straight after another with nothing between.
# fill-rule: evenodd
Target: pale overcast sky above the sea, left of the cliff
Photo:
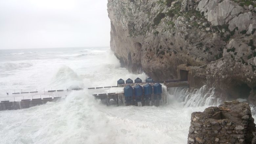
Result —
<instances>
[{"instance_id":1,"label":"pale overcast sky above the sea, left of the cliff","mask_svg":"<svg viewBox=\"0 0 256 144\"><path fill-rule=\"evenodd\" d=\"M0 49L109 43L107 0L0 0Z\"/></svg>"}]
</instances>

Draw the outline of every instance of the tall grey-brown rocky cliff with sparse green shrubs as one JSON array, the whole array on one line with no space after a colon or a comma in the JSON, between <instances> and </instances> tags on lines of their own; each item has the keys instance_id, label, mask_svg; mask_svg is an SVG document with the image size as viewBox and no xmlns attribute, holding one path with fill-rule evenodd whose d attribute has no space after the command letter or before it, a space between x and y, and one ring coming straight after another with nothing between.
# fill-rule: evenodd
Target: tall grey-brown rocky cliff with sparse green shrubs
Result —
<instances>
[{"instance_id":1,"label":"tall grey-brown rocky cliff with sparse green shrubs","mask_svg":"<svg viewBox=\"0 0 256 144\"><path fill-rule=\"evenodd\" d=\"M202 84L256 97L256 1L108 0L108 13L111 49L132 72L167 80L202 66Z\"/></svg>"}]
</instances>

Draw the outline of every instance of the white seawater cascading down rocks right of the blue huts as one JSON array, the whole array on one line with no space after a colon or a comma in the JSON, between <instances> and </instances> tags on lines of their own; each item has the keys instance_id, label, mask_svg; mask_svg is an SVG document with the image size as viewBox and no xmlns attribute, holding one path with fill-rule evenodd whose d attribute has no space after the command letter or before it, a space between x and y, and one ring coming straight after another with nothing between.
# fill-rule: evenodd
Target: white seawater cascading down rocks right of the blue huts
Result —
<instances>
[{"instance_id":1,"label":"white seawater cascading down rocks right of the blue huts","mask_svg":"<svg viewBox=\"0 0 256 144\"><path fill-rule=\"evenodd\" d=\"M189 90L187 87L168 89L168 102L181 102L184 107L218 106L221 100L215 97L215 89L203 86L200 89Z\"/></svg>"}]
</instances>

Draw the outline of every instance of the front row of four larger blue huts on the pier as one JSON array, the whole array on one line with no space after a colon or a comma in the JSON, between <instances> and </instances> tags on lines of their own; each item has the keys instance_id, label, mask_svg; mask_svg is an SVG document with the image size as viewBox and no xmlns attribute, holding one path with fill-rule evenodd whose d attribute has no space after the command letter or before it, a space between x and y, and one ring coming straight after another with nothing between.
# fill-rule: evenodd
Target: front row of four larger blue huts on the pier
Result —
<instances>
[{"instance_id":1,"label":"front row of four larger blue huts on the pier","mask_svg":"<svg viewBox=\"0 0 256 144\"><path fill-rule=\"evenodd\" d=\"M142 100L152 100L152 95L154 96L154 100L159 100L161 99L161 94L162 85L159 83L156 83L153 86L146 84L142 87L138 84L134 87L131 87L130 85L124 87L124 97L126 102L131 102L133 99L136 102L141 102Z\"/></svg>"}]
</instances>

